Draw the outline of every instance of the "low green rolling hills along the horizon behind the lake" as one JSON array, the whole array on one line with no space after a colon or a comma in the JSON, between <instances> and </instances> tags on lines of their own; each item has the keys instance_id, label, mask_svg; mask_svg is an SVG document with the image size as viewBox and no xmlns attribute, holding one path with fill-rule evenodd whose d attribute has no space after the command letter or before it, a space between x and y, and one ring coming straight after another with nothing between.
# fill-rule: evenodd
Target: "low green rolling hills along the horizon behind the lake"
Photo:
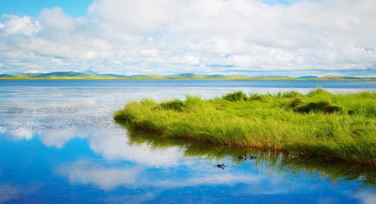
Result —
<instances>
[{"instance_id":1,"label":"low green rolling hills along the horizon behind the lake","mask_svg":"<svg viewBox=\"0 0 376 204\"><path fill-rule=\"evenodd\" d=\"M1 74L0 80L38 80L38 79L51 79L51 80L69 80L69 79L376 79L371 77L342 77L342 76L242 76L242 75L221 75L221 74L193 74L193 73L180 73L171 75L157 75L157 74L138 74L132 76L117 75L117 74L96 74L96 73L82 73L76 71L59 71L52 73L26 73L26 74Z\"/></svg>"}]
</instances>

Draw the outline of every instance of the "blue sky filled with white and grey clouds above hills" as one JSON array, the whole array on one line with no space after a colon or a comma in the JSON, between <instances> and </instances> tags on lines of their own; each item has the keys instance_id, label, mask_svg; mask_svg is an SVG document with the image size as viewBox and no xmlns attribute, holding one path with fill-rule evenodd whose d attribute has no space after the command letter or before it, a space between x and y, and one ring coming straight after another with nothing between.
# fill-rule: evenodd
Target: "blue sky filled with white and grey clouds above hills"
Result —
<instances>
[{"instance_id":1,"label":"blue sky filled with white and grey clouds above hills","mask_svg":"<svg viewBox=\"0 0 376 204\"><path fill-rule=\"evenodd\" d=\"M0 0L0 74L376 77L374 0Z\"/></svg>"}]
</instances>

